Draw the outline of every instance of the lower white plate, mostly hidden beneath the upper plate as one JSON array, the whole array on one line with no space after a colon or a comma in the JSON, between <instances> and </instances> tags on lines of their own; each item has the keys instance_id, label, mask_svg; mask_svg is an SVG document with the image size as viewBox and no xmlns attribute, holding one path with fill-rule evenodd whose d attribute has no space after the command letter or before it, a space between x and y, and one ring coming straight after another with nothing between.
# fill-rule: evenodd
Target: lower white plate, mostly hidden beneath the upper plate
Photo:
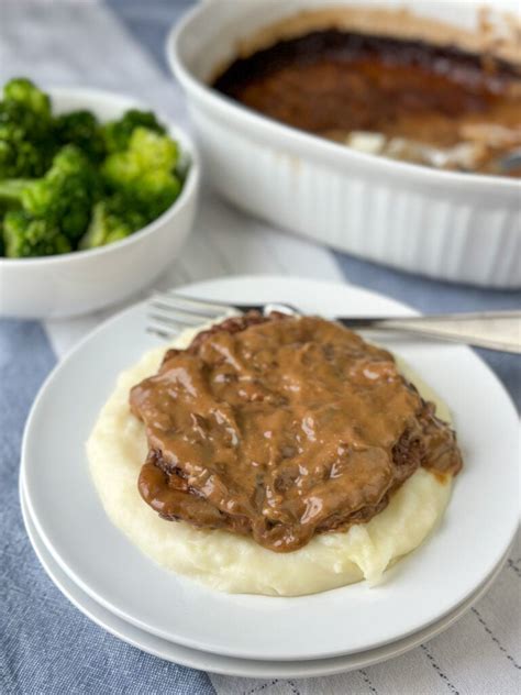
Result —
<instances>
[{"instance_id":1,"label":"lower white plate, mostly hidden beneath the upper plate","mask_svg":"<svg viewBox=\"0 0 521 695\"><path fill-rule=\"evenodd\" d=\"M156 637L145 630L140 630L135 626L118 618L95 602L82 592L53 560L51 553L45 548L38 537L34 523L30 518L25 503L25 494L20 487L20 503L22 516L27 531L27 536L33 545L34 552L42 563L47 575L57 588L76 606L85 616L93 622L104 628L111 635L120 638L124 642L137 647L143 651L160 657L191 669L209 671L210 673L222 673L225 675L239 675L251 679L273 677L273 679L309 679L321 675L333 675L344 673L355 669L364 669L388 659L400 657L404 652L414 649L422 642L432 639L440 632L446 630L464 613L466 613L481 596L488 591L490 584L496 580L508 556L508 551L501 562L494 570L492 574L478 588L478 591L467 598L455 611L445 616L434 625L415 632L392 644L386 644L367 652L335 657L332 659L310 660L310 661L259 661L253 659L235 659L234 657L220 657L209 652L202 652L189 647L181 647L175 642L169 642L160 637Z\"/></svg>"}]
</instances>

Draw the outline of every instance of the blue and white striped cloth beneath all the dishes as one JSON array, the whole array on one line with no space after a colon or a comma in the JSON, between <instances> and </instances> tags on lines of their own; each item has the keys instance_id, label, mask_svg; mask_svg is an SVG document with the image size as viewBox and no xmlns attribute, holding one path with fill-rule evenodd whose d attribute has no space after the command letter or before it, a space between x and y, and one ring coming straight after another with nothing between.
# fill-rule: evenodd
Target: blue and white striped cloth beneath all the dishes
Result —
<instances>
[{"instance_id":1,"label":"blue and white striped cloth beneath all the dishes","mask_svg":"<svg viewBox=\"0 0 521 695\"><path fill-rule=\"evenodd\" d=\"M239 1L239 0L237 0ZM243 0L244 1L244 0ZM190 0L0 0L0 81L128 92L189 128L163 55ZM384 269L268 229L204 191L196 229L162 286L229 274L353 282L422 311L519 307L519 293L457 287ZM520 691L521 548L488 595L445 633L385 664L319 680L244 680L167 663L91 624L49 582L18 503L24 421L46 374L108 312L70 321L0 321L0 693L508 694ZM483 353L521 405L520 360ZM447 569L450 572L450 569Z\"/></svg>"}]
</instances>

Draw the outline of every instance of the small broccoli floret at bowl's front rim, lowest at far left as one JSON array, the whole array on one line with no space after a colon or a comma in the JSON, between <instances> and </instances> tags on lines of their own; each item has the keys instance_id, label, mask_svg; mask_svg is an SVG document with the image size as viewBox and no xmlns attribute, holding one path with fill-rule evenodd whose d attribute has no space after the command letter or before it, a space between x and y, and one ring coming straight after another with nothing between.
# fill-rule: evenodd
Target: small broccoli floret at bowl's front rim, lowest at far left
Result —
<instances>
[{"instance_id":1,"label":"small broccoli floret at bowl's front rim, lowest at far left","mask_svg":"<svg viewBox=\"0 0 521 695\"><path fill-rule=\"evenodd\" d=\"M73 250L59 228L24 210L11 210L3 218L3 242L8 258L49 256Z\"/></svg>"}]
</instances>

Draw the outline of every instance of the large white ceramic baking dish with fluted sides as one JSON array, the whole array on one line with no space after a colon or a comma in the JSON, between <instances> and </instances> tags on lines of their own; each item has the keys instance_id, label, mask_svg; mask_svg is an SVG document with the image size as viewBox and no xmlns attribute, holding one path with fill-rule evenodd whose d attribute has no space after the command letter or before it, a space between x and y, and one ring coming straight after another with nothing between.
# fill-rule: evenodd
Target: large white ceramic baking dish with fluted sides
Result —
<instances>
[{"instance_id":1,"label":"large white ceramic baking dish with fluted sides","mask_svg":"<svg viewBox=\"0 0 521 695\"><path fill-rule=\"evenodd\" d=\"M259 27L304 8L341 3L361 4L207 0L174 27L168 59L217 189L255 216L378 263L459 283L521 286L519 181L363 154L267 119L207 86ZM472 0L364 4L409 5L467 27L478 7ZM494 7L516 3L495 0Z\"/></svg>"}]
</instances>

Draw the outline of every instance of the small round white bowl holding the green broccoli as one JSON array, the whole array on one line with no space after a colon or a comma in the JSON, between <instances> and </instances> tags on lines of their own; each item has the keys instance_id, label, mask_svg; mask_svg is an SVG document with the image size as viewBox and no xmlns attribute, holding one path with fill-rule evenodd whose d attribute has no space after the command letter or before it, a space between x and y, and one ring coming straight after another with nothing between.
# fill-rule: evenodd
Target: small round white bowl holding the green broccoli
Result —
<instances>
[{"instance_id":1,"label":"small round white bowl holding the green broccoli","mask_svg":"<svg viewBox=\"0 0 521 695\"><path fill-rule=\"evenodd\" d=\"M90 109L101 121L117 119L138 103L91 89L52 89L60 113ZM0 316L58 318L93 311L149 285L176 257L190 231L197 206L200 165L187 135L158 114L158 120L190 158L190 169L175 203L157 220L123 241L41 258L0 258Z\"/></svg>"}]
</instances>

